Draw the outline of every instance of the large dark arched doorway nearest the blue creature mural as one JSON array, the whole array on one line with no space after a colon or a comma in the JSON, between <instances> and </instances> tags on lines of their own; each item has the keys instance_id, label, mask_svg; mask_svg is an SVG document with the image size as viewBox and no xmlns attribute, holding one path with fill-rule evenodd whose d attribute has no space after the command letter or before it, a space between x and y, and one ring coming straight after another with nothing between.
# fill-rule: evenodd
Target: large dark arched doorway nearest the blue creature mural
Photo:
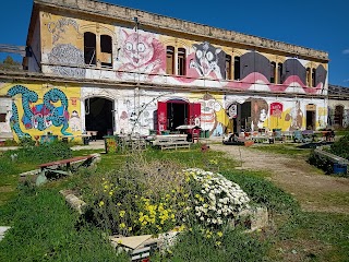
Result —
<instances>
[{"instance_id":1,"label":"large dark arched doorway nearest the blue creature mural","mask_svg":"<svg viewBox=\"0 0 349 262\"><path fill-rule=\"evenodd\" d=\"M85 127L86 131L98 131L97 139L112 134L112 100L93 97L85 100Z\"/></svg>"}]
</instances>

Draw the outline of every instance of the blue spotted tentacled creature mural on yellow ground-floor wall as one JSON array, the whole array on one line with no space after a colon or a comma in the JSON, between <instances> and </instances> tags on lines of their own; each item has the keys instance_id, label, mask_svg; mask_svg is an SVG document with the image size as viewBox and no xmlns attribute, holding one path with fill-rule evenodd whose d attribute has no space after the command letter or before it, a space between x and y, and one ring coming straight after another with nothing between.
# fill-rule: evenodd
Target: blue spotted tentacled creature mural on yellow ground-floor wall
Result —
<instances>
[{"instance_id":1,"label":"blue spotted tentacled creature mural on yellow ground-floor wall","mask_svg":"<svg viewBox=\"0 0 349 262\"><path fill-rule=\"evenodd\" d=\"M25 129L37 129L44 131L50 126L60 127L63 135L70 135L67 132L69 128L69 112L68 112L68 98L65 94L58 90L52 88L44 95L44 103L31 107L32 103L38 100L38 95L23 85L15 85L8 91L8 95L13 97L15 95L22 95L22 106L24 115L22 117L22 123ZM56 107L52 103L61 102L60 107ZM10 119L13 131L22 136L31 136L24 132L20 126L20 117L17 106L12 102L12 117Z\"/></svg>"}]
</instances>

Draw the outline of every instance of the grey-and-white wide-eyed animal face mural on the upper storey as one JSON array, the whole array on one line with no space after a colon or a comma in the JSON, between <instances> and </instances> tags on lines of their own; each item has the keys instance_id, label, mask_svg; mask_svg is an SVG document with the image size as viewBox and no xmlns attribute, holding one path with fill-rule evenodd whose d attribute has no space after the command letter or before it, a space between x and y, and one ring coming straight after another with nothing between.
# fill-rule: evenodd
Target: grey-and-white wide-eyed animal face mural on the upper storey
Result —
<instances>
[{"instance_id":1,"label":"grey-and-white wide-eyed animal face mural on the upper storey","mask_svg":"<svg viewBox=\"0 0 349 262\"><path fill-rule=\"evenodd\" d=\"M226 53L207 41L194 44L194 59L190 61L190 68L195 69L200 76L210 75L214 79L226 78Z\"/></svg>"}]
</instances>

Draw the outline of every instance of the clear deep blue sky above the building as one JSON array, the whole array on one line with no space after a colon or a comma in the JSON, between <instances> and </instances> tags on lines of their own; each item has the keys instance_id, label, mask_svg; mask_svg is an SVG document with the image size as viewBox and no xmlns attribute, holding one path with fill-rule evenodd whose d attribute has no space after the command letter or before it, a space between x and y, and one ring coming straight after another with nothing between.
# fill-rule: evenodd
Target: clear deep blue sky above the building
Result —
<instances>
[{"instance_id":1,"label":"clear deep blue sky above the building","mask_svg":"<svg viewBox=\"0 0 349 262\"><path fill-rule=\"evenodd\" d=\"M104 2L327 51L330 59L328 82L349 87L347 0ZM25 45L32 4L32 0L1 1L0 44Z\"/></svg>"}]
</instances>

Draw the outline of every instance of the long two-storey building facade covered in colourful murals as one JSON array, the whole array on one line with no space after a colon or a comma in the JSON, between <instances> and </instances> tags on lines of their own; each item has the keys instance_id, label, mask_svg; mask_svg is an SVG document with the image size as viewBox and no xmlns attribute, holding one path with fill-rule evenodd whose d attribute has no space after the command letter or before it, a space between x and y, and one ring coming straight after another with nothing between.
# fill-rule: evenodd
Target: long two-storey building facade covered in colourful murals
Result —
<instances>
[{"instance_id":1,"label":"long two-storey building facade covered in colourful murals","mask_svg":"<svg viewBox=\"0 0 349 262\"><path fill-rule=\"evenodd\" d=\"M327 127L324 51L92 0L34 0L26 45L0 72L16 138Z\"/></svg>"}]
</instances>

